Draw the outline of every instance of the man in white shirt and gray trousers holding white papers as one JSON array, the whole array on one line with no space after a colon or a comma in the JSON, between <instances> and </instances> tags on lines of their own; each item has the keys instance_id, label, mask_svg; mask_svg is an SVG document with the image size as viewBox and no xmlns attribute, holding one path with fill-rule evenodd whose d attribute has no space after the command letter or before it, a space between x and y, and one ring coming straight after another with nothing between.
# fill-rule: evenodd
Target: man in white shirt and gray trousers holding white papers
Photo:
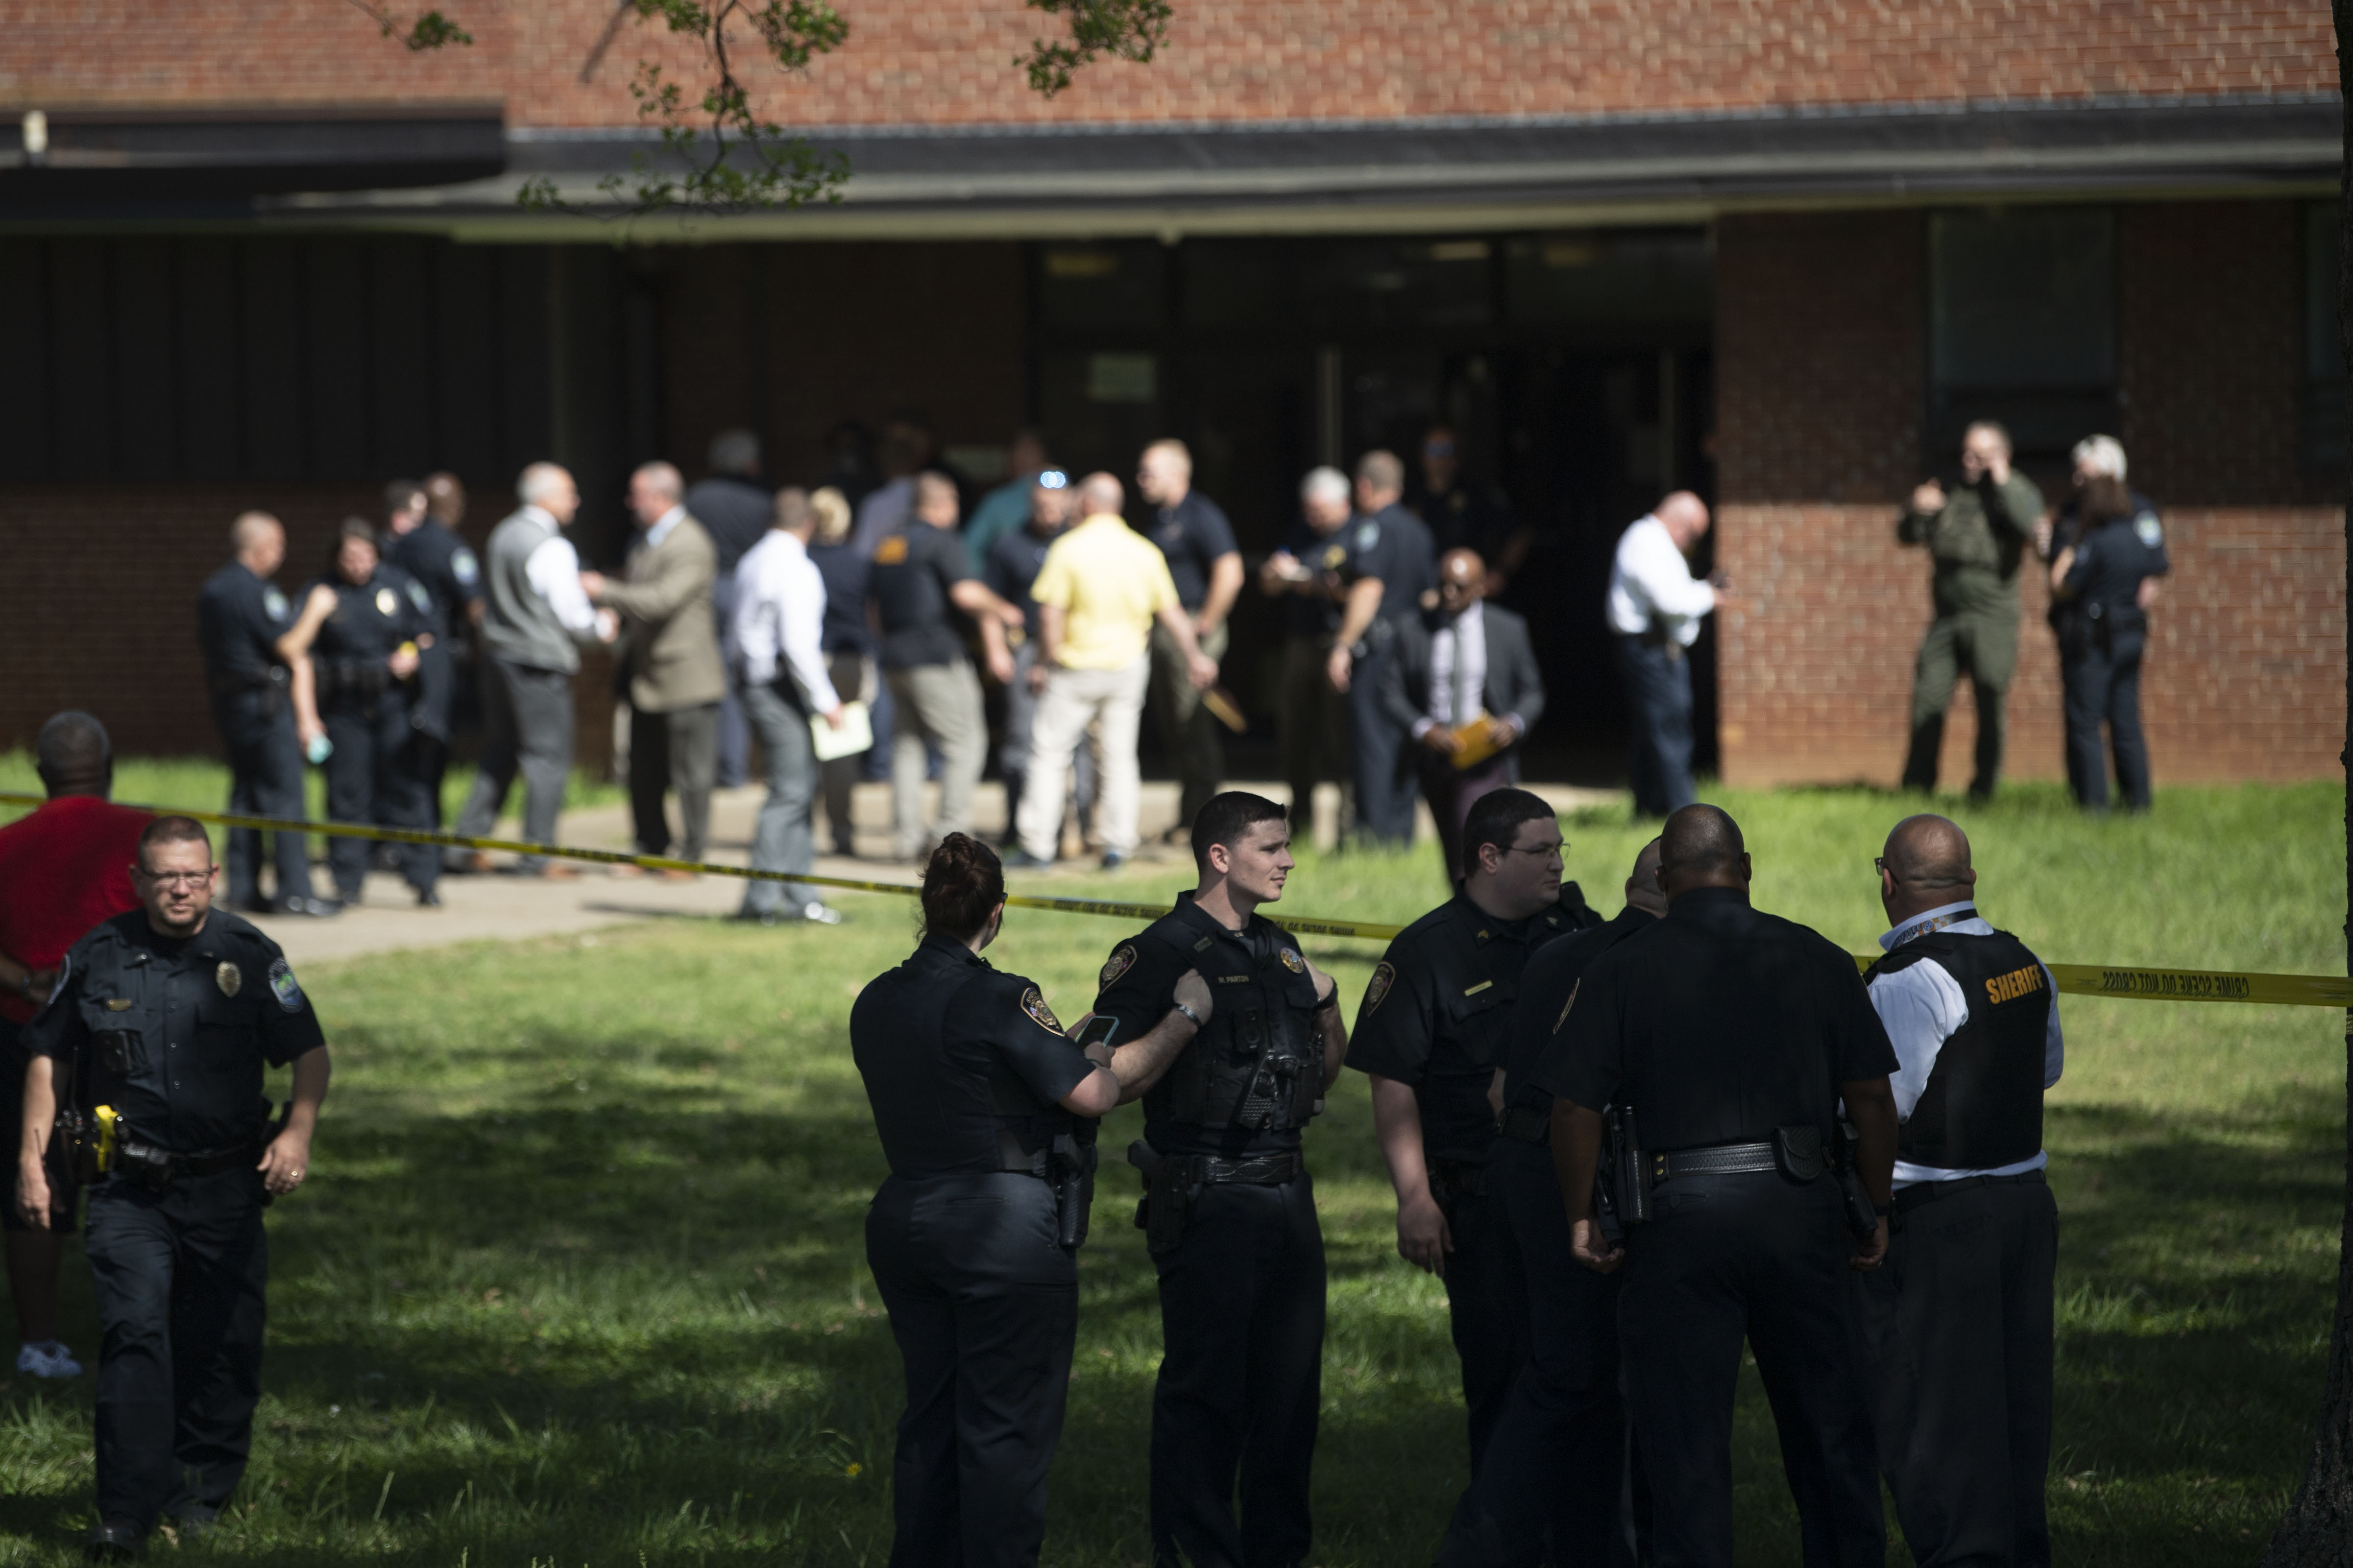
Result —
<instances>
[{"instance_id":1,"label":"man in white shirt and gray trousers holding white papers","mask_svg":"<svg viewBox=\"0 0 2353 1568\"><path fill-rule=\"evenodd\" d=\"M842 698L826 675L819 632L826 621L826 581L809 559L816 510L807 491L776 491L774 524L734 574L734 623L727 663L744 693L744 712L767 755L767 802L753 830L751 865L762 872L807 872L816 863L809 813L816 806L816 741L809 719L840 726ZM736 919L779 926L809 919L826 926L840 912L800 882L746 882Z\"/></svg>"}]
</instances>

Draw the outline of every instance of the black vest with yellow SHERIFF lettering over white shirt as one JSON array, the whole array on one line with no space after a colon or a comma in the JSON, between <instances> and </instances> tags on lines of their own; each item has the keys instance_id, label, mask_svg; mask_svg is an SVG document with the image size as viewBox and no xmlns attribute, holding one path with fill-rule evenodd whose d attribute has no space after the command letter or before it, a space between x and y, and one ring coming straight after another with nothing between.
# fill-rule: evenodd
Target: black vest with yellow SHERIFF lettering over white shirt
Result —
<instances>
[{"instance_id":1,"label":"black vest with yellow SHERIFF lettering over white shirt","mask_svg":"<svg viewBox=\"0 0 2353 1568\"><path fill-rule=\"evenodd\" d=\"M1969 1020L1937 1051L1927 1088L1897 1133L1897 1159L1939 1171L1991 1171L2042 1152L2042 1051L2052 992L2026 943L1995 931L1932 931L1904 943L1866 980L1937 959Z\"/></svg>"}]
</instances>

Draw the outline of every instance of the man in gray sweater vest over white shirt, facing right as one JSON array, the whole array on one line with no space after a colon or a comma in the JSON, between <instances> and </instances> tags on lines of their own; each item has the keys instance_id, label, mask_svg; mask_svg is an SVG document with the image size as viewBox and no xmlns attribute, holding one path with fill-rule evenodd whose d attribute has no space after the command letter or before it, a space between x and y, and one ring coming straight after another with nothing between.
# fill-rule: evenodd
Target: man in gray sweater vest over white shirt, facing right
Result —
<instances>
[{"instance_id":1,"label":"man in gray sweater vest over white shirt, facing right","mask_svg":"<svg viewBox=\"0 0 2353 1568\"><path fill-rule=\"evenodd\" d=\"M572 677L584 642L612 642L616 618L581 588L581 562L565 538L581 494L558 463L532 463L515 482L522 508L489 534L482 562L482 773L456 832L485 837L522 771L522 837L555 839L555 811L572 776ZM487 872L489 856L452 851L452 870ZM569 879L569 865L541 856L515 875Z\"/></svg>"}]
</instances>

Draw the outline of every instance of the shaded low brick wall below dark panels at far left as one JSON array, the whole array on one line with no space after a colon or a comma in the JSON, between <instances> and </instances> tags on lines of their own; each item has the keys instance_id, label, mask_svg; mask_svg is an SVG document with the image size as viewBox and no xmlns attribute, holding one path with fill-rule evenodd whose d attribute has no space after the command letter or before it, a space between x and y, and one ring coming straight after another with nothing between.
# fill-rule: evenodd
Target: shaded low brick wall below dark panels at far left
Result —
<instances>
[{"instance_id":1,"label":"shaded low brick wall below dark panels at far left","mask_svg":"<svg viewBox=\"0 0 2353 1568\"><path fill-rule=\"evenodd\" d=\"M320 574L327 538L381 491L332 484L28 484L0 491L0 750L31 748L61 708L99 715L125 755L219 755L195 595L228 559L228 524L247 510L287 524L287 595ZM478 503L468 534L499 520ZM579 757L612 752L612 672L591 658L579 693Z\"/></svg>"}]
</instances>

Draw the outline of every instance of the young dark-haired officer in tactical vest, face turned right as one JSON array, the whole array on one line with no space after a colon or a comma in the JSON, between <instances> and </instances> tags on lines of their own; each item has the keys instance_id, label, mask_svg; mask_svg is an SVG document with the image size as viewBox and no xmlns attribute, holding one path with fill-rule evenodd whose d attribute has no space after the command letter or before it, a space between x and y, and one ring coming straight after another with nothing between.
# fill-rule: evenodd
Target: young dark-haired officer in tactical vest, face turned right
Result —
<instances>
[{"instance_id":1,"label":"young dark-haired officer in tactical vest, face turned right","mask_svg":"<svg viewBox=\"0 0 2353 1568\"><path fill-rule=\"evenodd\" d=\"M1259 905L1282 896L1289 823L1264 795L1193 818L1200 886L1111 950L1094 1011L1158 1027L1200 971L1214 1018L1144 1095L1139 1222L1160 1272L1153 1561L1292 1568L1313 1537L1325 1258L1299 1131L1348 1056L1332 978ZM1235 1488L1240 1486L1240 1519Z\"/></svg>"}]
</instances>

